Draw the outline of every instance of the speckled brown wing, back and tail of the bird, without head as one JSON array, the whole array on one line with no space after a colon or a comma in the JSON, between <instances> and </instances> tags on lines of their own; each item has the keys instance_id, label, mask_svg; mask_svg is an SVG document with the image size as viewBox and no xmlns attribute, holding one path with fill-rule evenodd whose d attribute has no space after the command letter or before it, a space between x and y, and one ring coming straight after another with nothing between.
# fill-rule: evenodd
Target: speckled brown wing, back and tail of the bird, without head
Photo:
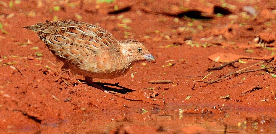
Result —
<instances>
[{"instance_id":1,"label":"speckled brown wing, back and tail of the bird, without head","mask_svg":"<svg viewBox=\"0 0 276 134\"><path fill-rule=\"evenodd\" d=\"M36 32L57 57L84 70L110 70L108 65L120 56L117 40L105 29L89 23L65 20L25 28Z\"/></svg>"}]
</instances>

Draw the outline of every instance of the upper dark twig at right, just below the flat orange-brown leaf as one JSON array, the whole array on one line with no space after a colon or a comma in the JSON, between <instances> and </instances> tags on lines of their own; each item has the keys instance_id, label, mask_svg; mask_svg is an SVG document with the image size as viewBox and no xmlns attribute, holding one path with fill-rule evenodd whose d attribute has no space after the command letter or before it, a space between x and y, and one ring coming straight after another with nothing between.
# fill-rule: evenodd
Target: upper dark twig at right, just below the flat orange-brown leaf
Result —
<instances>
[{"instance_id":1,"label":"upper dark twig at right, just below the flat orange-brown leaf","mask_svg":"<svg viewBox=\"0 0 276 134\"><path fill-rule=\"evenodd\" d=\"M231 61L231 62L229 62L229 63L227 63L227 64L222 65L222 66L210 67L210 68L207 69L207 71L210 71L210 70L221 70L222 68L224 68L224 67L226 67L226 66L228 66L228 65L231 65L231 64L233 64L233 63L235 63L235 62L238 62L238 61L241 60L241 59L249 59L249 60L250 60L250 59L251 59L251 60L270 60L270 59L272 59L272 58L275 57L275 56L276 56L276 53L273 54L273 55L271 55L271 56L264 56L264 57L242 57L242 58L239 58L238 60Z\"/></svg>"}]
</instances>

